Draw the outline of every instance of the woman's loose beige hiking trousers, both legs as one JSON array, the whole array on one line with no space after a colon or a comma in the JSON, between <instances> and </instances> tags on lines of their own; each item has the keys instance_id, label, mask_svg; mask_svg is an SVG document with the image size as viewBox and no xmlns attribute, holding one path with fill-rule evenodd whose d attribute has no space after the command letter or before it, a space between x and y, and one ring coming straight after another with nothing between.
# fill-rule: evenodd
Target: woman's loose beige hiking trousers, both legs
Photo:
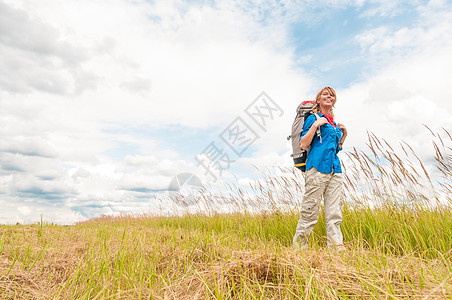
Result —
<instances>
[{"instance_id":1,"label":"woman's loose beige hiking trousers, both legs","mask_svg":"<svg viewBox=\"0 0 452 300\"><path fill-rule=\"evenodd\" d=\"M325 220L328 247L342 245L342 174L325 174L315 168L305 174L305 194L301 216L293 237L295 248L308 248L308 238L319 219L320 202L325 202Z\"/></svg>"}]
</instances>

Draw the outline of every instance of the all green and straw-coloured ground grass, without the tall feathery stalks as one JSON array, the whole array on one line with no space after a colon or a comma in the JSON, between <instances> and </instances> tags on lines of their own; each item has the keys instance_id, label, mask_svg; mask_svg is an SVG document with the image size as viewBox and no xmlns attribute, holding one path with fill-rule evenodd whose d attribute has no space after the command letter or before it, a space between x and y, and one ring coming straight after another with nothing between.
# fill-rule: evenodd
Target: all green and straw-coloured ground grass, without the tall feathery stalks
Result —
<instances>
[{"instance_id":1,"label":"all green and straw-coloured ground grass, without the tall feathery stalks","mask_svg":"<svg viewBox=\"0 0 452 300\"><path fill-rule=\"evenodd\" d=\"M347 250L291 249L298 214L0 227L0 291L23 299L452 297L450 210L344 208ZM445 226L444 220L448 225Z\"/></svg>"}]
</instances>

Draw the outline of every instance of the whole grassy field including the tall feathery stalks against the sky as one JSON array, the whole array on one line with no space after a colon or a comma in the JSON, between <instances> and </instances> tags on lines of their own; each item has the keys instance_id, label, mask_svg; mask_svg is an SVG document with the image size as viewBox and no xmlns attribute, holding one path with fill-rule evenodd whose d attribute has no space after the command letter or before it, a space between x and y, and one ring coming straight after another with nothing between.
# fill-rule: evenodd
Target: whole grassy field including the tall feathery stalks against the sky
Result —
<instances>
[{"instance_id":1,"label":"whole grassy field including the tall feathery stalks against the sky","mask_svg":"<svg viewBox=\"0 0 452 300\"><path fill-rule=\"evenodd\" d=\"M294 172L254 187L253 210L239 189L230 213L1 226L1 298L452 299L452 149L434 142L432 182L408 145L369 147L348 154L344 252L326 247L323 217L310 249L292 249Z\"/></svg>"}]
</instances>

